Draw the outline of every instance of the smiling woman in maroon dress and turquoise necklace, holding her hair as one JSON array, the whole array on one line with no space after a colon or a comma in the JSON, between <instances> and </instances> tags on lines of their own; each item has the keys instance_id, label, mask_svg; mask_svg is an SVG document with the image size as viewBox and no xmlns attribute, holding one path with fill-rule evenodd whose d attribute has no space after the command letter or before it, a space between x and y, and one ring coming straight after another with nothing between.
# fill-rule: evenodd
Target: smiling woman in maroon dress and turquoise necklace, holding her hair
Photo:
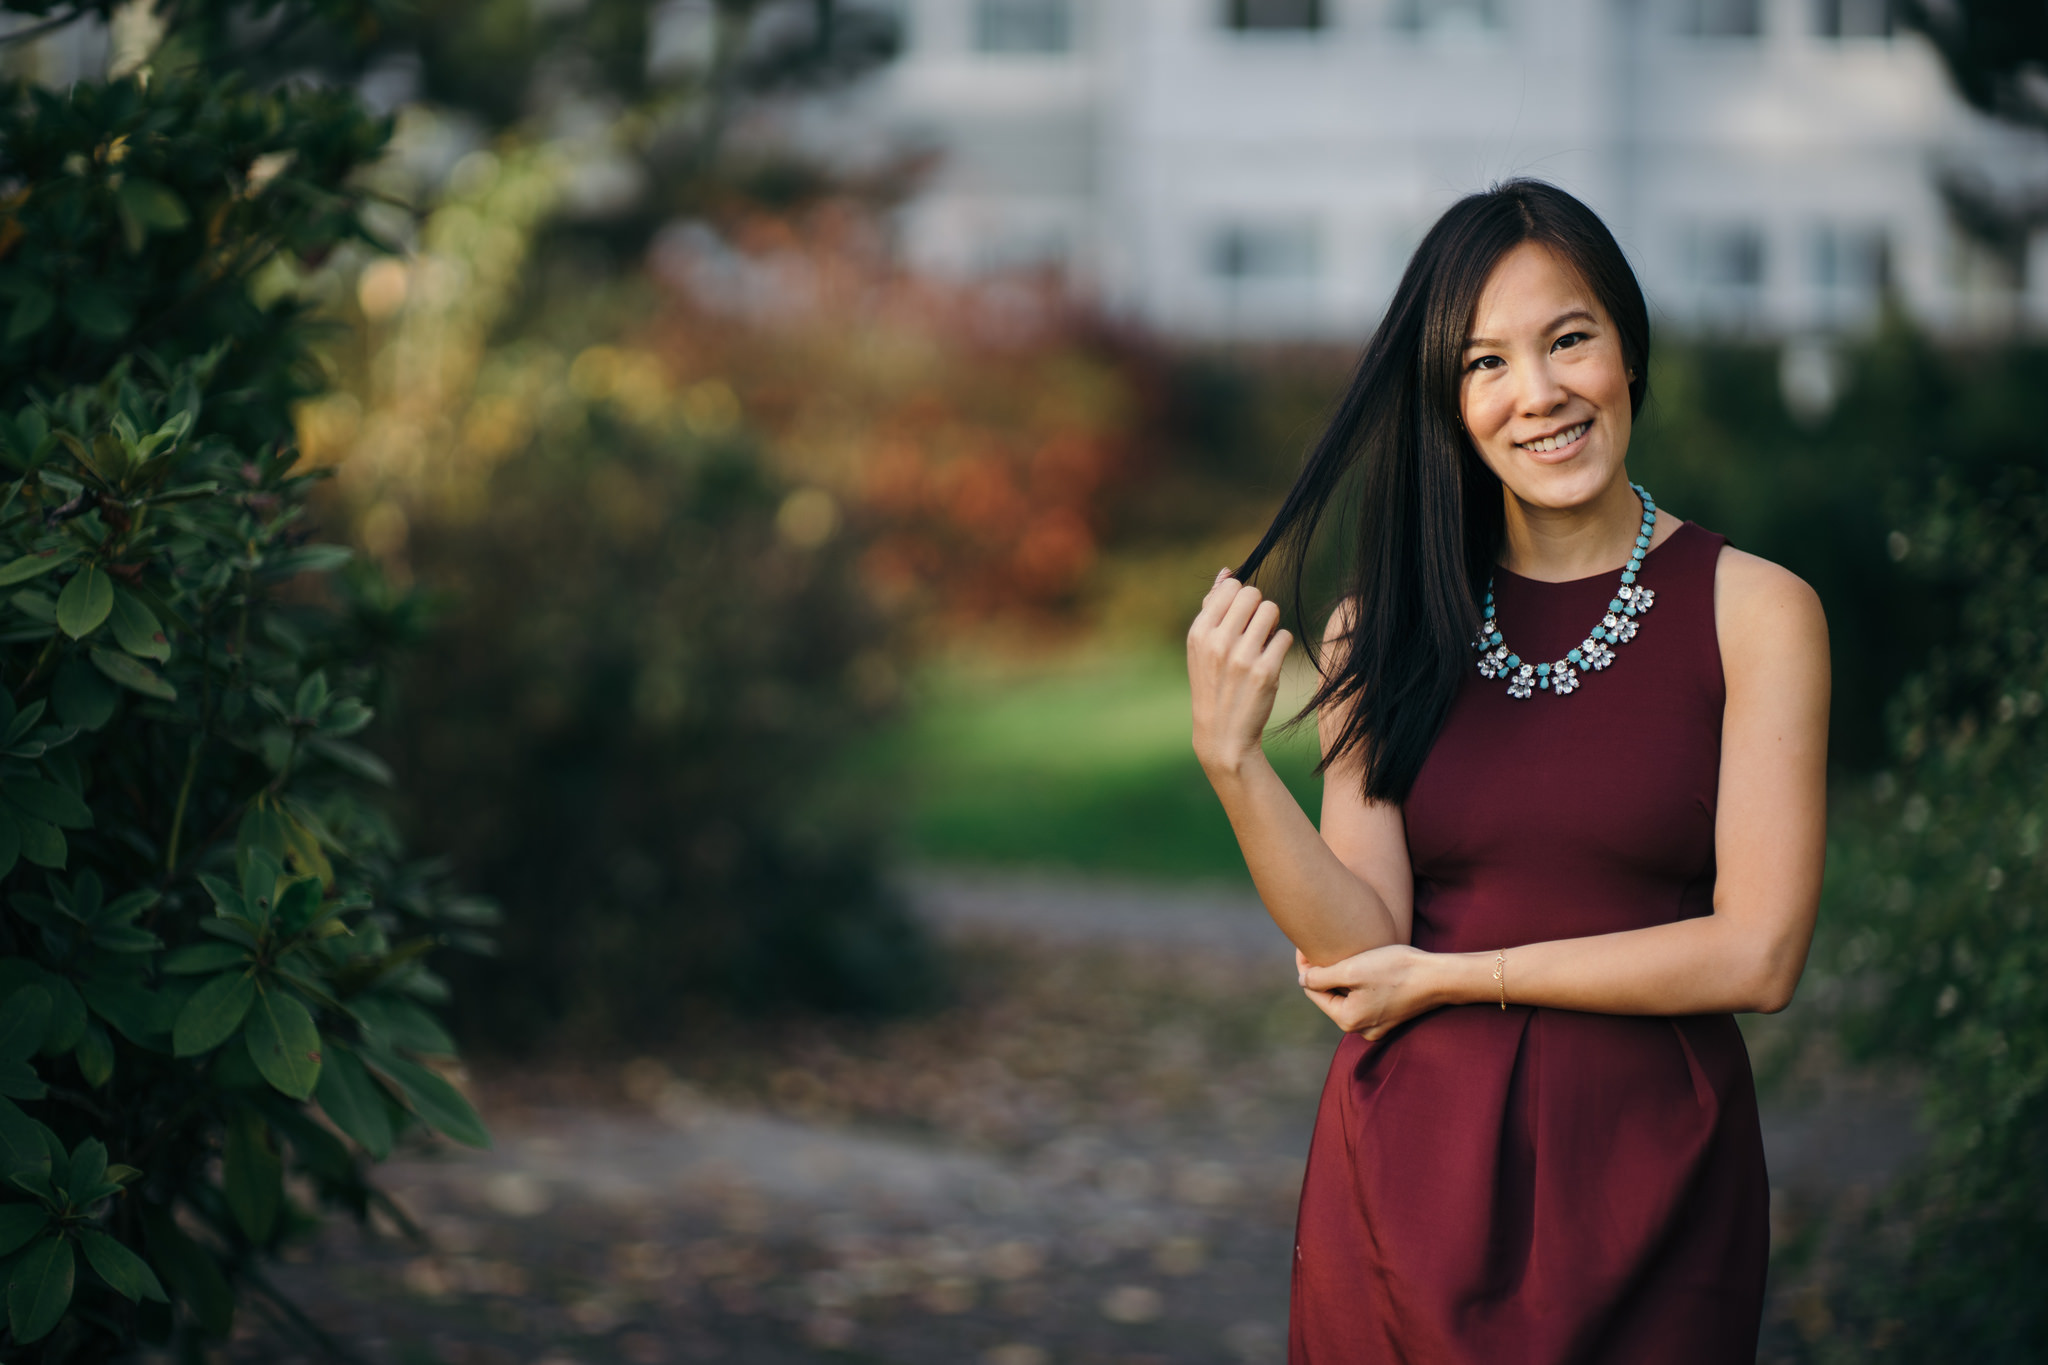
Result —
<instances>
[{"instance_id":1,"label":"smiling woman in maroon dress and turquoise necklace, holding her hair","mask_svg":"<svg viewBox=\"0 0 2048 1365\"><path fill-rule=\"evenodd\" d=\"M1827 626L1624 458L1649 313L1585 205L1518 180L1417 248L1251 559L1188 632L1194 747L1346 1029L1294 1365L1749 1365L1769 1187L1735 1011L1821 892ZM1247 585L1356 518L1311 708L1323 821L1260 737L1292 636Z\"/></svg>"}]
</instances>

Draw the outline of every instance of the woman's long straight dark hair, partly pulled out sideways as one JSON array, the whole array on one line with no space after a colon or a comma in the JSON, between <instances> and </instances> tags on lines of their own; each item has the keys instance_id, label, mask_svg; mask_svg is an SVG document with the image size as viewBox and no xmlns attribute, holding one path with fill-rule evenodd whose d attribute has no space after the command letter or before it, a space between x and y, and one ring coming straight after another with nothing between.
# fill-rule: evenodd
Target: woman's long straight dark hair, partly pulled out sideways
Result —
<instances>
[{"instance_id":1,"label":"woman's long straight dark hair, partly pulled out sideways","mask_svg":"<svg viewBox=\"0 0 2048 1365\"><path fill-rule=\"evenodd\" d=\"M1348 583L1356 612L1341 641L1311 655L1323 686L1303 716L1352 704L1323 767L1358 751L1370 800L1407 800L1473 667L1468 641L1501 553L1505 508L1501 481L1458 422L1458 381L1487 276L1524 241L1556 252L1599 299L1632 375L1630 409L1642 409L1651 317L1608 225L1542 180L1507 180L1470 194L1415 248L1329 428L1237 569L1245 581L1278 553L1292 591L1290 616L1307 626L1303 575L1311 540L1331 499L1352 495L1341 512L1356 518ZM1315 639L1307 628L1303 636Z\"/></svg>"}]
</instances>

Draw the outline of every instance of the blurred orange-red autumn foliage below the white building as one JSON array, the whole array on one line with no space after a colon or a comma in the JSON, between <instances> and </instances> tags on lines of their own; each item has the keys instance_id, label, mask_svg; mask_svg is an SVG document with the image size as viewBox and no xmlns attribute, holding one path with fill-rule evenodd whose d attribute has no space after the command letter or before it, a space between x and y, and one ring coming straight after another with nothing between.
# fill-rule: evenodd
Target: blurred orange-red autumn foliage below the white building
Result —
<instances>
[{"instance_id":1,"label":"blurred orange-red autumn foliage below the white building","mask_svg":"<svg viewBox=\"0 0 2048 1365\"><path fill-rule=\"evenodd\" d=\"M733 389L868 538L879 593L938 626L1075 606L1137 465L1141 344L1049 278L911 276L848 205L676 231L651 264L668 305L641 344Z\"/></svg>"}]
</instances>

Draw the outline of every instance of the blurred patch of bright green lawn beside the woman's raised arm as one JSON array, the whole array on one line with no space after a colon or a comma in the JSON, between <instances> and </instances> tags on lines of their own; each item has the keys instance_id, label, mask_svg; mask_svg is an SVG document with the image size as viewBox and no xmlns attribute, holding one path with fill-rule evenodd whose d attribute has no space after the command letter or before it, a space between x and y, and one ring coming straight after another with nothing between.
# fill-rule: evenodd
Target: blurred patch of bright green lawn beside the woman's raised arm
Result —
<instances>
[{"instance_id":1,"label":"blurred patch of bright green lawn beside the woman's raised arm","mask_svg":"<svg viewBox=\"0 0 2048 1365\"><path fill-rule=\"evenodd\" d=\"M922 862L1245 878L1229 821L1188 749L1188 675L1171 655L1049 669L942 669L862 763L909 798ZM1282 696L1282 708L1288 708ZM1292 714L1284 710L1282 714ZM1313 814L1315 735L1268 739Z\"/></svg>"}]
</instances>

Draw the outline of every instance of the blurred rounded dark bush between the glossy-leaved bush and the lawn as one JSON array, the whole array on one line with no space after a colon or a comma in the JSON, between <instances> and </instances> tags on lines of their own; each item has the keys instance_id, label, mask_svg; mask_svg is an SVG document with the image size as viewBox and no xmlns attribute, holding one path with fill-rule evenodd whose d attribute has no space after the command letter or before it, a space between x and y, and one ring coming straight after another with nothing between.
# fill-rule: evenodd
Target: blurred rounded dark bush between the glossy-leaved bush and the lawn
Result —
<instances>
[{"instance_id":1,"label":"blurred rounded dark bush between the glossy-leaved bush and the lawn","mask_svg":"<svg viewBox=\"0 0 2048 1365\"><path fill-rule=\"evenodd\" d=\"M838 761L897 673L858 534L784 534L791 489L739 432L584 417L412 532L451 610L395 716L408 827L506 909L461 1029L524 1048L694 1001L930 999L887 792Z\"/></svg>"}]
</instances>

